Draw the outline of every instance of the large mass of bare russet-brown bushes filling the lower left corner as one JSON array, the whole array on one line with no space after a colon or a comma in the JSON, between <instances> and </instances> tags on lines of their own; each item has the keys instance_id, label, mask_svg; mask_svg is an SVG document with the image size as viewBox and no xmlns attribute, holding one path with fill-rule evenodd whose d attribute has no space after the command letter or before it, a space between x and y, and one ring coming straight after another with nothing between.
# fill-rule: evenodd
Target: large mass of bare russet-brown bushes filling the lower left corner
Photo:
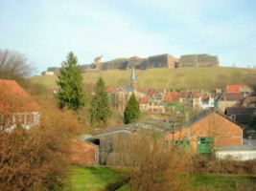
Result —
<instances>
[{"instance_id":1,"label":"large mass of bare russet-brown bushes filling the lower left corner","mask_svg":"<svg viewBox=\"0 0 256 191\"><path fill-rule=\"evenodd\" d=\"M37 102L41 116L36 127L25 130L17 123L12 131L0 129L0 190L62 189L69 139L81 131L81 126L70 111L60 112L50 98L39 96ZM23 110L15 105L8 115ZM0 125L3 115L0 113Z\"/></svg>"}]
</instances>

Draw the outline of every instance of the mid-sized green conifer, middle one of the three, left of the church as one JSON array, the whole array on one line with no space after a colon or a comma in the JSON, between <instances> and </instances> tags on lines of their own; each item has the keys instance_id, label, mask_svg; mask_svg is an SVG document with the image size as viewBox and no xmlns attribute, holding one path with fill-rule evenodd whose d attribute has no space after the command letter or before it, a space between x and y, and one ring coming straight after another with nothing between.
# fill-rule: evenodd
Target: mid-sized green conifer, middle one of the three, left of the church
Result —
<instances>
[{"instance_id":1,"label":"mid-sized green conifer, middle one of the three, left of the church","mask_svg":"<svg viewBox=\"0 0 256 191\"><path fill-rule=\"evenodd\" d=\"M111 108L107 93L105 92L105 81L100 77L96 83L94 95L90 103L90 124L92 128L104 127L107 119L111 117Z\"/></svg>"}]
</instances>

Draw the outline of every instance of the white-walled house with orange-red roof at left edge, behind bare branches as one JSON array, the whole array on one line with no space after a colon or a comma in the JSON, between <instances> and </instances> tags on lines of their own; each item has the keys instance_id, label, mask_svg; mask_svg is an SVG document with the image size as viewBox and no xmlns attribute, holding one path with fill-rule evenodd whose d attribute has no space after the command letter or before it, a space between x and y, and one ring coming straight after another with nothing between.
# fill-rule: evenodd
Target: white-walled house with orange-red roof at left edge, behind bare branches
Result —
<instances>
[{"instance_id":1,"label":"white-walled house with orange-red roof at left edge, behind bare branches","mask_svg":"<svg viewBox=\"0 0 256 191\"><path fill-rule=\"evenodd\" d=\"M39 123L40 107L14 80L0 79L0 129L26 129Z\"/></svg>"}]
</instances>

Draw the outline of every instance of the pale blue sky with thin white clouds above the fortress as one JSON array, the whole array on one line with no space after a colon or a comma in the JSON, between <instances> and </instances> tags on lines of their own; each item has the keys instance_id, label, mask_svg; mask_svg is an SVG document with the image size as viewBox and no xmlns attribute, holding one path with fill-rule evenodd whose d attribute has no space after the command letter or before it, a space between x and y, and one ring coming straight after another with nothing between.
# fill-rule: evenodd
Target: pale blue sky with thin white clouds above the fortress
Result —
<instances>
[{"instance_id":1,"label":"pale blue sky with thin white clouds above the fortress","mask_svg":"<svg viewBox=\"0 0 256 191\"><path fill-rule=\"evenodd\" d=\"M0 0L0 49L37 68L169 53L256 66L256 0Z\"/></svg>"}]
</instances>

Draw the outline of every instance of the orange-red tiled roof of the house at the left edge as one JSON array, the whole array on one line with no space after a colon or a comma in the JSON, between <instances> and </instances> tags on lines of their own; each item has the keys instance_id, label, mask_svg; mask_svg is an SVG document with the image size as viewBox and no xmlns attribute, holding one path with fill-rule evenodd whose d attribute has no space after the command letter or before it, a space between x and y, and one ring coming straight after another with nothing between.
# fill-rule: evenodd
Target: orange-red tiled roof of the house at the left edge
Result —
<instances>
[{"instance_id":1,"label":"orange-red tiled roof of the house at the left edge","mask_svg":"<svg viewBox=\"0 0 256 191\"><path fill-rule=\"evenodd\" d=\"M0 112L32 112L39 105L14 80L0 79Z\"/></svg>"}]
</instances>

